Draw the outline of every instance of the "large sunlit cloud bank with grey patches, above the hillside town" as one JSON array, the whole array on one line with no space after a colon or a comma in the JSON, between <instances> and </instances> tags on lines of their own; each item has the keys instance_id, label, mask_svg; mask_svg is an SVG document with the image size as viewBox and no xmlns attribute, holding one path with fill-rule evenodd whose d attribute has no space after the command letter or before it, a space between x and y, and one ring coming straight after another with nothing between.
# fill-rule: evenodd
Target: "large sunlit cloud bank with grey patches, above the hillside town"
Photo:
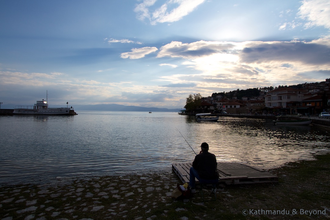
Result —
<instances>
[{"instance_id":1,"label":"large sunlit cloud bank with grey patches, above the hillside town","mask_svg":"<svg viewBox=\"0 0 330 220\"><path fill-rule=\"evenodd\" d=\"M157 57L165 56L185 59L182 64L194 70L161 77L173 83L166 87L189 88L191 83L193 92L207 94L222 88L322 81L321 73L330 71L330 38L310 42L171 42L159 49Z\"/></svg>"}]
</instances>

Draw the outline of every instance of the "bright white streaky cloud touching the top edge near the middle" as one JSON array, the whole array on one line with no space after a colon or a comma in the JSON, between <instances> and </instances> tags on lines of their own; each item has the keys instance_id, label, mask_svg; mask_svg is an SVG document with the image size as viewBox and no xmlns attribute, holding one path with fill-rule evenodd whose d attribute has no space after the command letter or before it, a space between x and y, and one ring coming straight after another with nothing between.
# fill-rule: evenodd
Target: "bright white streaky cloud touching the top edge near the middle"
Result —
<instances>
[{"instance_id":1,"label":"bright white streaky cloud touching the top edge near the middle","mask_svg":"<svg viewBox=\"0 0 330 220\"><path fill-rule=\"evenodd\" d=\"M168 0L159 8L154 9L153 12L149 8L154 5L155 0L144 0L138 4L134 12L140 20L149 19L152 25L164 22L175 22L182 17L194 11L197 6L202 4L205 0ZM171 10L172 8L172 10Z\"/></svg>"}]
</instances>

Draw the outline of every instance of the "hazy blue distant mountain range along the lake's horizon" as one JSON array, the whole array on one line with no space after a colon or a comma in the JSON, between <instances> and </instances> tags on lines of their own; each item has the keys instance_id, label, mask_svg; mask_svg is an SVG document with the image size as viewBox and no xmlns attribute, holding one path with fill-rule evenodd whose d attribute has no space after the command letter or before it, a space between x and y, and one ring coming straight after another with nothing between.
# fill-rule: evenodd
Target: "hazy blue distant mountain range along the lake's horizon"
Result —
<instances>
[{"instance_id":1,"label":"hazy blue distant mountain range along the lake's horizon","mask_svg":"<svg viewBox=\"0 0 330 220\"><path fill-rule=\"evenodd\" d=\"M49 105L49 108L61 108L66 106ZM71 107L71 106L69 106ZM1 109L14 109L13 105L1 105ZM100 104L100 105L74 105L74 110L77 111L168 111L177 112L182 109L166 109L166 108L146 108L138 106L124 106L117 104Z\"/></svg>"}]
</instances>

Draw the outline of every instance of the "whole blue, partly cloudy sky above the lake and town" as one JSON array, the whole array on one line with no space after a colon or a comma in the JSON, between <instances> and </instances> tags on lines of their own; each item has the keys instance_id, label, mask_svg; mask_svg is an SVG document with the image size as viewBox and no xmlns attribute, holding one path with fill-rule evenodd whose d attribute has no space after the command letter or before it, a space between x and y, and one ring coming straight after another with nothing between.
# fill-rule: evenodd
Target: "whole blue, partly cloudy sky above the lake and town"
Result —
<instances>
[{"instance_id":1,"label":"whole blue, partly cloudy sky above the lake and town","mask_svg":"<svg viewBox=\"0 0 330 220\"><path fill-rule=\"evenodd\" d=\"M3 105L175 109L327 78L329 0L0 0Z\"/></svg>"}]
</instances>

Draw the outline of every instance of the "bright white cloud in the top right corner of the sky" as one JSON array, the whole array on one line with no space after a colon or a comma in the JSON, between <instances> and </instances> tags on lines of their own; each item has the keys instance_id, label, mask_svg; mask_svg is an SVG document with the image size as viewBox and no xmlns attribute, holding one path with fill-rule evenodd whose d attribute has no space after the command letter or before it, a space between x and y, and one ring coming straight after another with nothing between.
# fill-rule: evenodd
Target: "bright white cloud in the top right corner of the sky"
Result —
<instances>
[{"instance_id":1,"label":"bright white cloud in the top right corner of the sky","mask_svg":"<svg viewBox=\"0 0 330 220\"><path fill-rule=\"evenodd\" d=\"M330 29L330 1L329 0L304 0L299 8L300 18L307 20L306 28L324 26Z\"/></svg>"}]
</instances>

